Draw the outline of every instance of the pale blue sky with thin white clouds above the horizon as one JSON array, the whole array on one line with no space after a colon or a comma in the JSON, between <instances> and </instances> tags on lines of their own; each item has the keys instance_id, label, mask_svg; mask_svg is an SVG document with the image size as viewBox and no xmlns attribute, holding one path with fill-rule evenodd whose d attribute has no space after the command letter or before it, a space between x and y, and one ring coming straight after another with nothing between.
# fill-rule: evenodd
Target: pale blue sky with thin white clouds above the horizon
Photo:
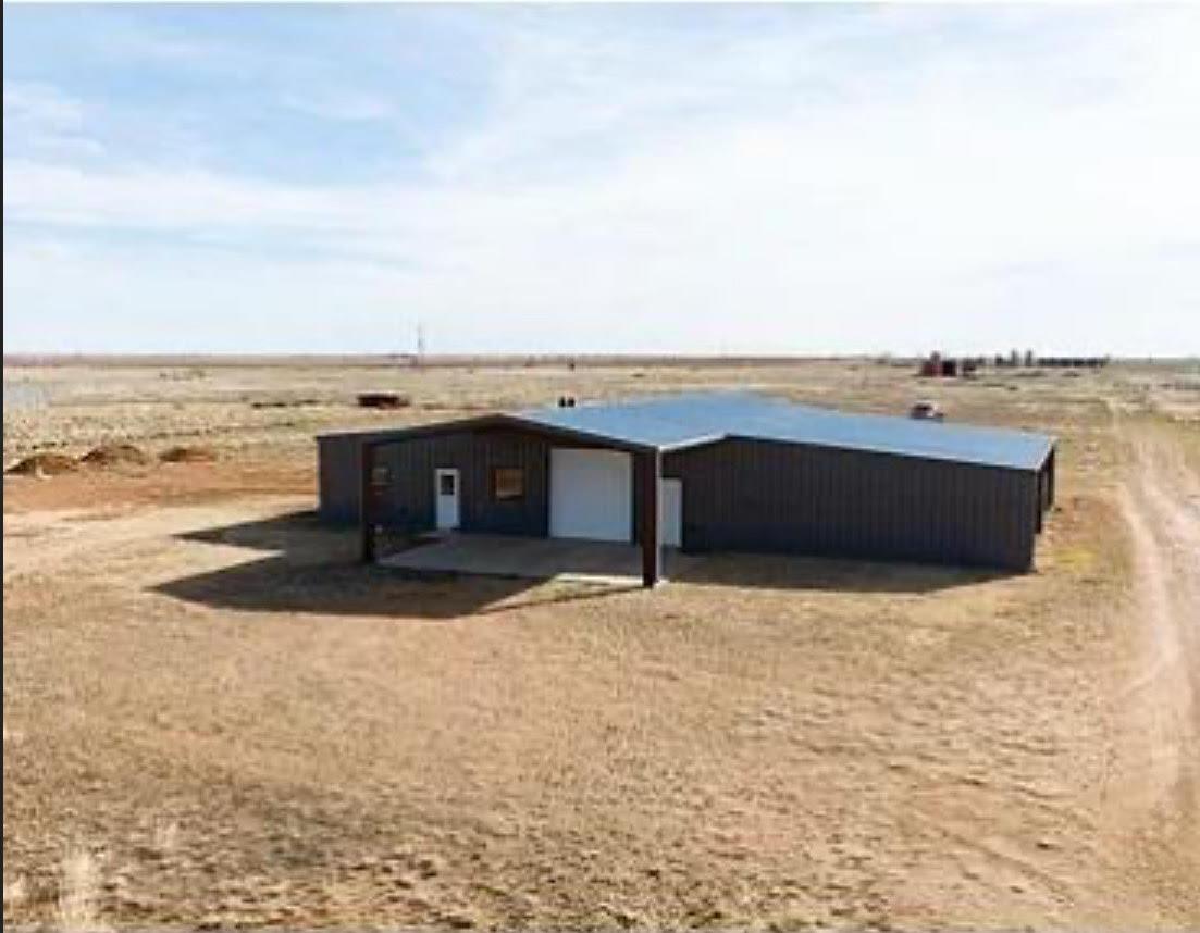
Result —
<instances>
[{"instance_id":1,"label":"pale blue sky with thin white clouds above the horizon","mask_svg":"<svg viewBox=\"0 0 1200 933\"><path fill-rule=\"evenodd\" d=\"M4 7L6 353L1200 354L1200 7Z\"/></svg>"}]
</instances>

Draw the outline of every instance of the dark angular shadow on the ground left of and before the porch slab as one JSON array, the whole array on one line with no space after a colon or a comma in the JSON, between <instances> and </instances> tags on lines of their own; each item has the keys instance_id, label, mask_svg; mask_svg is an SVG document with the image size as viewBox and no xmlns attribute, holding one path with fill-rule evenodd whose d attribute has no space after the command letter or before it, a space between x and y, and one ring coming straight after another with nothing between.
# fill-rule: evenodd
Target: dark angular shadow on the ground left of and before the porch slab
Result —
<instances>
[{"instance_id":1,"label":"dark angular shadow on the ground left of and before the porch slab","mask_svg":"<svg viewBox=\"0 0 1200 933\"><path fill-rule=\"evenodd\" d=\"M640 590L366 566L358 559L356 529L330 528L313 512L187 531L178 537L268 552L268 556L152 588L175 600L236 612L450 620Z\"/></svg>"}]
</instances>

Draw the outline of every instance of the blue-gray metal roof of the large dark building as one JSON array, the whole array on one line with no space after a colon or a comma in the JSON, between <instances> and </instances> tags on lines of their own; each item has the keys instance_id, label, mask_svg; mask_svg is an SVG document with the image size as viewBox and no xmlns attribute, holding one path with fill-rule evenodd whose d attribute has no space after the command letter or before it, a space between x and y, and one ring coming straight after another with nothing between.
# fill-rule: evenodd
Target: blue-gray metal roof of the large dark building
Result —
<instances>
[{"instance_id":1,"label":"blue-gray metal roof of the large dark building","mask_svg":"<svg viewBox=\"0 0 1200 933\"><path fill-rule=\"evenodd\" d=\"M1054 446L1054 438L1046 434L848 414L754 392L696 392L540 408L508 417L660 450L752 438L1021 470L1040 468Z\"/></svg>"}]
</instances>

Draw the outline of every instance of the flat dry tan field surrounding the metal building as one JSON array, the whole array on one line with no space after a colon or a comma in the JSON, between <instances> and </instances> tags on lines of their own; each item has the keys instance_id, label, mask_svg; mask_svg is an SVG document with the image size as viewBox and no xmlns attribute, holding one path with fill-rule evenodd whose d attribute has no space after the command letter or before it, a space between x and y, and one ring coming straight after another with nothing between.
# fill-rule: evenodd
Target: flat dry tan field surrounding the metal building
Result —
<instances>
[{"instance_id":1,"label":"flat dry tan field surrounding the metal building","mask_svg":"<svg viewBox=\"0 0 1200 933\"><path fill-rule=\"evenodd\" d=\"M307 514L319 431L709 385L1057 434L1037 571L422 582ZM179 361L5 387L6 465L218 455L5 478L6 922L1200 928L1195 363Z\"/></svg>"}]
</instances>

